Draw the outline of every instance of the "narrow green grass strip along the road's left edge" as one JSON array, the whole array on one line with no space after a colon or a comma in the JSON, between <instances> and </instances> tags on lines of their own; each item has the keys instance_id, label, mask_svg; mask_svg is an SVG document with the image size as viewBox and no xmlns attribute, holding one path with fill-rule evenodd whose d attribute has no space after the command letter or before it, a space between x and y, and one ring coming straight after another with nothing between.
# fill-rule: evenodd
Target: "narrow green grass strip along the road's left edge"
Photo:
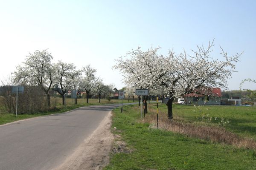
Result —
<instances>
[{"instance_id":1,"label":"narrow green grass strip along the road's left edge","mask_svg":"<svg viewBox=\"0 0 256 170\"><path fill-rule=\"evenodd\" d=\"M99 99L89 99L89 103L86 103L86 99L77 99L77 105L75 105L74 99L72 100L67 98L66 106L63 106L62 98L52 97L51 98L52 109L50 109L49 111L42 111L42 112L33 113L33 114L18 114L17 117L13 113L7 113L6 108L4 108L3 105L0 105L0 125L9 123L9 122L14 122L17 120L33 118L37 116L45 116L53 113L63 113L63 112L70 111L75 108L79 108L87 105L103 105L103 104L111 104L111 103L119 103L119 102L120 102L119 99L111 99L110 102L106 99L101 99L101 103L99 103ZM127 103L128 100L123 100L123 102ZM132 102L132 100L129 100L129 102Z\"/></svg>"}]
</instances>

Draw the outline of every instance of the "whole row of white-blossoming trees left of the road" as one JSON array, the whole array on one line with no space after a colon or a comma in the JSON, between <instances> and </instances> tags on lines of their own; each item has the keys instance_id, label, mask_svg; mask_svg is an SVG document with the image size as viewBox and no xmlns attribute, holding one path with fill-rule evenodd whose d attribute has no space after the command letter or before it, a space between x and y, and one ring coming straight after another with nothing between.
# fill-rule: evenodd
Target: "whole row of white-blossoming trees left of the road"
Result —
<instances>
[{"instance_id":1,"label":"whole row of white-blossoming trees left of the road","mask_svg":"<svg viewBox=\"0 0 256 170\"><path fill-rule=\"evenodd\" d=\"M97 94L99 98L102 94L111 97L113 85L105 85L102 79L96 75L96 69L90 65L77 69L73 63L63 61L53 63L52 59L48 49L37 50L33 54L29 53L26 60L17 66L11 77L11 84L23 85L31 90L40 88L46 96L48 108L51 106L50 91L57 91L62 96L63 105L65 95L71 89L76 90L77 94L84 91L87 96L87 103L91 94Z\"/></svg>"}]
</instances>

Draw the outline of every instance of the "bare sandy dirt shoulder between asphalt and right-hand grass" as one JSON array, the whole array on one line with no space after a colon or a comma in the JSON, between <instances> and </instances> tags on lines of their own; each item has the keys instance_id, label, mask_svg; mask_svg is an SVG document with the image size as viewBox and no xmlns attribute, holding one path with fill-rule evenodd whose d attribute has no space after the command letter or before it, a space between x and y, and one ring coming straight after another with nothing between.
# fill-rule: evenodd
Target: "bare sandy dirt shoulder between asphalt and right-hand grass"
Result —
<instances>
[{"instance_id":1,"label":"bare sandy dirt shoulder between asphalt and right-hand grass","mask_svg":"<svg viewBox=\"0 0 256 170\"><path fill-rule=\"evenodd\" d=\"M109 112L91 136L54 170L101 170L109 163L113 135L110 132L111 116Z\"/></svg>"}]
</instances>

